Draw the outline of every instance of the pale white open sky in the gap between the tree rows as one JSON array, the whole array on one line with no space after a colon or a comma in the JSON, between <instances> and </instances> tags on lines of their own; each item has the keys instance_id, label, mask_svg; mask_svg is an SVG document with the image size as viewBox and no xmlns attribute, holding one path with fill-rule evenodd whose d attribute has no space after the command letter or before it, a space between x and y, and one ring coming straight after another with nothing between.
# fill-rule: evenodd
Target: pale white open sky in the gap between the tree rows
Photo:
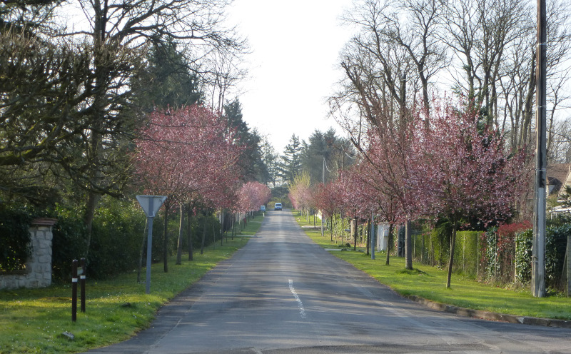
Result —
<instances>
[{"instance_id":1,"label":"pale white open sky in the gap between the tree rows","mask_svg":"<svg viewBox=\"0 0 571 354\"><path fill-rule=\"evenodd\" d=\"M333 127L325 100L342 72L339 52L350 39L340 16L351 0L234 0L230 24L248 39L249 75L238 99L250 128L283 153L292 134L300 140Z\"/></svg>"}]
</instances>

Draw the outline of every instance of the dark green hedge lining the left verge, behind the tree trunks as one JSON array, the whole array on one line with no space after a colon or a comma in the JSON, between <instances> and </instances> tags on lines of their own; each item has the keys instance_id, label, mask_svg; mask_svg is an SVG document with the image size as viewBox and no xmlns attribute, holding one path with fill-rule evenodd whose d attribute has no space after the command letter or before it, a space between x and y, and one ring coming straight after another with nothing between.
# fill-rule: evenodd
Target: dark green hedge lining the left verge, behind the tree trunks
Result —
<instances>
[{"instance_id":1,"label":"dark green hedge lining the left verge, behind the tree trunks","mask_svg":"<svg viewBox=\"0 0 571 354\"><path fill-rule=\"evenodd\" d=\"M52 267L54 280L66 282L71 278L71 261L86 257L87 276L104 279L136 270L141 255L143 240L146 241L146 217L136 201L119 201L103 198L97 209L89 252L86 243L86 230L81 218L82 211L75 208L58 208L54 218ZM179 214L176 208L168 214L168 256L176 253L178 243ZM201 246L203 222L206 218L206 246L213 242L213 232L219 230L216 216L198 216L191 218L191 230L195 251ZM153 222L152 262L163 261L164 210ZM214 231L213 231L214 230ZM216 236L220 240L220 236ZM186 221L183 232L183 251L188 251ZM143 248L143 266L146 261L146 246Z\"/></svg>"}]
</instances>

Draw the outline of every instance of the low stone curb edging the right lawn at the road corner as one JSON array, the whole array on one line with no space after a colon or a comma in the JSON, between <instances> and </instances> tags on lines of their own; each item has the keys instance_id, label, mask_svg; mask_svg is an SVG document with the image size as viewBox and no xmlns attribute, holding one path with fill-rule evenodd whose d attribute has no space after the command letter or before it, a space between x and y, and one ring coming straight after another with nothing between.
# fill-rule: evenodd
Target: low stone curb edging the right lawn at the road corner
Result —
<instances>
[{"instance_id":1,"label":"low stone curb edging the right lawn at the road corner","mask_svg":"<svg viewBox=\"0 0 571 354\"><path fill-rule=\"evenodd\" d=\"M462 315L472 318L481 318L483 320L495 320L507 323L520 323L522 325L542 325L545 327L557 327L557 328L571 328L571 320L555 320L552 318L536 318L527 316L516 316L507 315L505 313L494 313L484 310L473 310L470 308L460 308L458 306L446 305L444 303L435 303L431 300L426 300L425 298L419 298L415 295L405 296L406 298L413 300L415 303L420 303L433 310L439 310L448 313L454 313L456 315Z\"/></svg>"}]
</instances>

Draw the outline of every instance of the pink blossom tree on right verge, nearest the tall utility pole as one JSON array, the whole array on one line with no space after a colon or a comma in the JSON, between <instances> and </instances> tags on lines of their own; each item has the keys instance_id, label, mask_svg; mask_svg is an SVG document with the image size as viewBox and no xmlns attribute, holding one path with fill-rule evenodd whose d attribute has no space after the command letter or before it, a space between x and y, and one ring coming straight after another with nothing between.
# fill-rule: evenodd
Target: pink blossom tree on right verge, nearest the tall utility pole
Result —
<instances>
[{"instance_id":1,"label":"pink blossom tree on right verge, nearest the tall utility pole","mask_svg":"<svg viewBox=\"0 0 571 354\"><path fill-rule=\"evenodd\" d=\"M462 109L462 111L460 110ZM430 126L416 131L408 188L423 213L453 228L446 287L450 288L456 231L466 216L483 223L505 219L521 191L525 156L506 150L502 135L478 127L473 109L435 104Z\"/></svg>"}]
</instances>

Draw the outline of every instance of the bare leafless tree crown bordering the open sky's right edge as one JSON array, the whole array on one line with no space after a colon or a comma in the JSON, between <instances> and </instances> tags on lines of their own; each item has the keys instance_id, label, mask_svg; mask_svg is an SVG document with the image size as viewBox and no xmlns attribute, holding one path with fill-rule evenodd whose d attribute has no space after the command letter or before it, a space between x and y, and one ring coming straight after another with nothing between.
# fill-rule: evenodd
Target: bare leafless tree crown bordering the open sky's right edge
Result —
<instances>
[{"instance_id":1,"label":"bare leafless tree crown bordering the open sky's right edge","mask_svg":"<svg viewBox=\"0 0 571 354\"><path fill-rule=\"evenodd\" d=\"M344 92L337 96L352 96L360 117L368 124L383 126L413 104L411 88L418 88L418 81L407 51L385 36L389 29L383 12L388 6L379 1L365 1L362 6L345 16L348 24L358 27L358 34L341 54L346 82Z\"/></svg>"}]
</instances>

